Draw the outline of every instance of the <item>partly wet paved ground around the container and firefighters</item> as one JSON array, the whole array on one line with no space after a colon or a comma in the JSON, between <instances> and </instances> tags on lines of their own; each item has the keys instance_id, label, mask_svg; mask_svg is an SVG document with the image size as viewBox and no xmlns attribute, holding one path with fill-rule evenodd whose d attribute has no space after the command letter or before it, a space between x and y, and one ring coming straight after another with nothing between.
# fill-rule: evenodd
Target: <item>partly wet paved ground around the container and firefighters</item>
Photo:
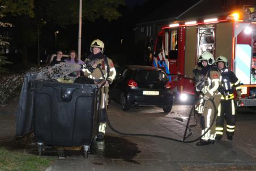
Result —
<instances>
[{"instance_id":1,"label":"partly wet paved ground around the container and firefighters","mask_svg":"<svg viewBox=\"0 0 256 171\"><path fill-rule=\"evenodd\" d=\"M174 105L169 114L153 106L122 112L121 106L112 102L108 114L118 131L182 140L190 107ZM37 155L33 134L15 139L16 118L13 109L5 114L7 108L0 108L0 146ZM244 112L237 115L232 142L224 136L215 144L198 147L195 143L151 136L118 135L107 127L105 140L93 142L88 159L84 159L79 150L46 147L44 155L56 156L55 163L47 170L256 170L256 112ZM193 122L191 119L191 124ZM188 140L200 135L199 123L192 129ZM59 151L63 153L59 155Z\"/></svg>"}]
</instances>

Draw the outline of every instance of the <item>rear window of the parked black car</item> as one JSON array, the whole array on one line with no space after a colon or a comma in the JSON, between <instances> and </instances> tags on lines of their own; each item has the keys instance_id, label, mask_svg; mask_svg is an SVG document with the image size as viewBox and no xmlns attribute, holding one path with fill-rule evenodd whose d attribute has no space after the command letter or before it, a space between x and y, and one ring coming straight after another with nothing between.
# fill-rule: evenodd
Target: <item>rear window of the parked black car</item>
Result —
<instances>
[{"instance_id":1,"label":"rear window of the parked black car","mask_svg":"<svg viewBox=\"0 0 256 171\"><path fill-rule=\"evenodd\" d=\"M137 82L152 82L152 81L161 81L166 82L167 76L164 72L161 71L148 71L148 70L141 70L136 72L135 80Z\"/></svg>"}]
</instances>

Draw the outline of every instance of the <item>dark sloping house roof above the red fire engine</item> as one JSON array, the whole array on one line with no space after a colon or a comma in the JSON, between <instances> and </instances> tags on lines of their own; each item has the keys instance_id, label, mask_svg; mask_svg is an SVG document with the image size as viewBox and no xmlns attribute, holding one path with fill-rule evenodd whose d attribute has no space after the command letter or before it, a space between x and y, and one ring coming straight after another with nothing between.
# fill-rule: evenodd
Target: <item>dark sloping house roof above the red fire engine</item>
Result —
<instances>
[{"instance_id":1,"label":"dark sloping house roof above the red fire engine","mask_svg":"<svg viewBox=\"0 0 256 171\"><path fill-rule=\"evenodd\" d=\"M190 2L190 4L188 3ZM194 5L191 4L194 2ZM197 3L195 3L197 2ZM187 6L189 5L189 6ZM141 20L139 24L160 22L169 20L174 22L176 20L195 20L206 17L218 17L230 14L230 12L240 9L244 5L256 6L255 0L195 0L187 1L182 7L173 7L173 2L170 1L164 6L157 8L147 18Z\"/></svg>"}]
</instances>

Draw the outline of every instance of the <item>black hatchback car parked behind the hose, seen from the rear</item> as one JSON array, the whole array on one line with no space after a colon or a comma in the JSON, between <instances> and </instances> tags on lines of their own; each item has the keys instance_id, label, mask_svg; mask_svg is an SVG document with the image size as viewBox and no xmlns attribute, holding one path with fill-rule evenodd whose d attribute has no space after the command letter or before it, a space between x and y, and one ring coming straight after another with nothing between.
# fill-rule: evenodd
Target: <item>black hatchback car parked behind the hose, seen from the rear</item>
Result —
<instances>
[{"instance_id":1,"label":"black hatchback car parked behind the hose, seen from the rear","mask_svg":"<svg viewBox=\"0 0 256 171\"><path fill-rule=\"evenodd\" d=\"M157 105L169 113L173 105L167 75L151 66L124 67L110 86L109 98L121 102L124 111L133 105Z\"/></svg>"}]
</instances>

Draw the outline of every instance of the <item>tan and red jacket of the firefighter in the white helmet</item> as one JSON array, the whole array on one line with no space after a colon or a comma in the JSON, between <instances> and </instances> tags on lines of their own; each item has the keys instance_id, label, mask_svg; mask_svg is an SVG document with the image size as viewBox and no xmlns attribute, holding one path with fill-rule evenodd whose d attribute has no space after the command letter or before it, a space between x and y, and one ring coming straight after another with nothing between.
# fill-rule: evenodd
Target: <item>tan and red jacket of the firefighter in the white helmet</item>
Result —
<instances>
[{"instance_id":1,"label":"tan and red jacket of the firefighter in the white helmet","mask_svg":"<svg viewBox=\"0 0 256 171\"><path fill-rule=\"evenodd\" d=\"M219 93L219 87L221 85L220 83L221 74L216 66L212 66L211 69L208 70L203 87L203 99L209 100L211 97Z\"/></svg>"}]
</instances>

